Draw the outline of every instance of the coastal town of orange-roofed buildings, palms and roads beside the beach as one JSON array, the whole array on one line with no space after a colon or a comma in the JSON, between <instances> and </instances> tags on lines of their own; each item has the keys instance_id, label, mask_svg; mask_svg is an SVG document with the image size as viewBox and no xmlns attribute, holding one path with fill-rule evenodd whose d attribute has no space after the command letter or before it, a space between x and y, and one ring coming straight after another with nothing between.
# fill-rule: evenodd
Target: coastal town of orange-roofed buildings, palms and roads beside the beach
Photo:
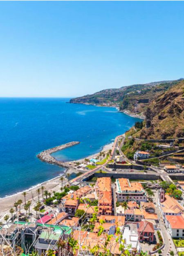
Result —
<instances>
[{"instance_id":1,"label":"coastal town of orange-roofed buildings, palms and roads beside the beach","mask_svg":"<svg viewBox=\"0 0 184 256\"><path fill-rule=\"evenodd\" d=\"M67 163L76 177L66 174L50 191L41 186L32 200L22 193L24 200L1 215L1 251L21 256L182 256L183 140L139 140L140 150L128 157L131 141L130 134L117 136L111 150ZM154 161L155 152L159 161Z\"/></svg>"}]
</instances>

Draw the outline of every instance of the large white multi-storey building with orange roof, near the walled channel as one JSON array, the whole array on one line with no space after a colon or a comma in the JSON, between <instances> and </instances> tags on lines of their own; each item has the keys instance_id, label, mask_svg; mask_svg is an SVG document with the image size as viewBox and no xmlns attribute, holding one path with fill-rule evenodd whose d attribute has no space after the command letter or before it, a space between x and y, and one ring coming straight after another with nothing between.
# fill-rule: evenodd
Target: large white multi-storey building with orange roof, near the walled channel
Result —
<instances>
[{"instance_id":1,"label":"large white multi-storey building with orange roof, near the walled channel","mask_svg":"<svg viewBox=\"0 0 184 256\"><path fill-rule=\"evenodd\" d=\"M118 202L146 202L146 191L139 182L130 183L129 179L116 179L116 196Z\"/></svg>"}]
</instances>

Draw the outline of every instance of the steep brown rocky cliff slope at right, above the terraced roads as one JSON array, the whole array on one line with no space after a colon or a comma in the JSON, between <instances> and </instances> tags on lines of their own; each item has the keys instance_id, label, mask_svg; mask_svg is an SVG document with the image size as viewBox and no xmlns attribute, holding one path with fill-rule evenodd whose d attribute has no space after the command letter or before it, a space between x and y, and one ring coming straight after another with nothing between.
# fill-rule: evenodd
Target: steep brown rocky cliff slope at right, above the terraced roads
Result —
<instances>
[{"instance_id":1,"label":"steep brown rocky cliff slope at right, above the terraced roads","mask_svg":"<svg viewBox=\"0 0 184 256\"><path fill-rule=\"evenodd\" d=\"M184 80L153 100L145 116L140 138L184 137Z\"/></svg>"}]
</instances>

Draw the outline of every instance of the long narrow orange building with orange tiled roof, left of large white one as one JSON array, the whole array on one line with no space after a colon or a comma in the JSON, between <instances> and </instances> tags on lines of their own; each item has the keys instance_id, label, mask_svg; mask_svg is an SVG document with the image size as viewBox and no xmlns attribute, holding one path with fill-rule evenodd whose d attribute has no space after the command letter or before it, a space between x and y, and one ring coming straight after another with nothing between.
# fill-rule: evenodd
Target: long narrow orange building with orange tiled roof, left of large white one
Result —
<instances>
[{"instance_id":1,"label":"long narrow orange building with orange tiled roof, left of large white one","mask_svg":"<svg viewBox=\"0 0 184 256\"><path fill-rule=\"evenodd\" d=\"M112 215L112 188L110 177L98 178L95 191L99 202L99 215Z\"/></svg>"}]
</instances>

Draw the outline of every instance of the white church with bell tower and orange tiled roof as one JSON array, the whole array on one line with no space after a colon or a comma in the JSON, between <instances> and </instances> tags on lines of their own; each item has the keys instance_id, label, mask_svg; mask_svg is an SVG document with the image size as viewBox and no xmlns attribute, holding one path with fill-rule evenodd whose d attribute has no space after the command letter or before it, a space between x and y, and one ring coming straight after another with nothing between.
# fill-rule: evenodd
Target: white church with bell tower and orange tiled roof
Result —
<instances>
[{"instance_id":1,"label":"white church with bell tower and orange tiled roof","mask_svg":"<svg viewBox=\"0 0 184 256\"><path fill-rule=\"evenodd\" d=\"M177 215L180 216L184 212L183 206L181 206L176 199L165 195L164 190L161 188L159 191L159 210L162 214L162 218L166 223L166 215Z\"/></svg>"}]
</instances>

